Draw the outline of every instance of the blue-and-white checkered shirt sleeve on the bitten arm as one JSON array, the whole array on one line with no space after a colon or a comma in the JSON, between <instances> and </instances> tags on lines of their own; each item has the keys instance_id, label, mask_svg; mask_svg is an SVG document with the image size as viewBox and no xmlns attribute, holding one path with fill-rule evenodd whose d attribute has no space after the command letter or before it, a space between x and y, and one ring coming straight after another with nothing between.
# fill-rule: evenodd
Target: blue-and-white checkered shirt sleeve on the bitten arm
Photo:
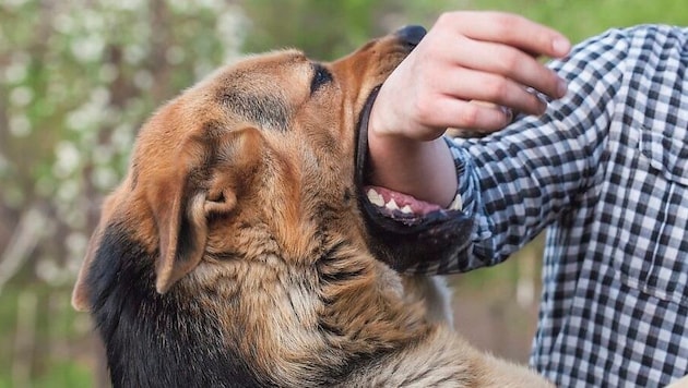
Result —
<instances>
[{"instance_id":1,"label":"blue-and-white checkered shirt sleeve on the bitten arm","mask_svg":"<svg viewBox=\"0 0 688 388\"><path fill-rule=\"evenodd\" d=\"M553 61L550 68L569 89L565 98L548 101L543 116L517 117L483 138L447 138L456 163L459 203L475 227L465 257L442 264L441 272L503 260L595 185L624 81L625 34L609 31Z\"/></svg>"}]
</instances>

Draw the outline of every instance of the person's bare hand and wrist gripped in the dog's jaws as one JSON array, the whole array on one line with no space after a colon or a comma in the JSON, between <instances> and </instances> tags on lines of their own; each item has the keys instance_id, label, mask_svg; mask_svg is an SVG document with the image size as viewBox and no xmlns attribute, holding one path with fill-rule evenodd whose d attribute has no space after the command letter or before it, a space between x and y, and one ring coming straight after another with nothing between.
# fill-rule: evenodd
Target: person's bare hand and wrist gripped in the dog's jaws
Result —
<instances>
[{"instance_id":1,"label":"person's bare hand and wrist gripped in the dog's jaws","mask_svg":"<svg viewBox=\"0 0 688 388\"><path fill-rule=\"evenodd\" d=\"M566 83L537 61L564 57L570 44L556 31L496 12L441 15L382 84L370 111L370 184L447 206L456 193L447 128L491 132L511 110L541 114Z\"/></svg>"}]
</instances>

